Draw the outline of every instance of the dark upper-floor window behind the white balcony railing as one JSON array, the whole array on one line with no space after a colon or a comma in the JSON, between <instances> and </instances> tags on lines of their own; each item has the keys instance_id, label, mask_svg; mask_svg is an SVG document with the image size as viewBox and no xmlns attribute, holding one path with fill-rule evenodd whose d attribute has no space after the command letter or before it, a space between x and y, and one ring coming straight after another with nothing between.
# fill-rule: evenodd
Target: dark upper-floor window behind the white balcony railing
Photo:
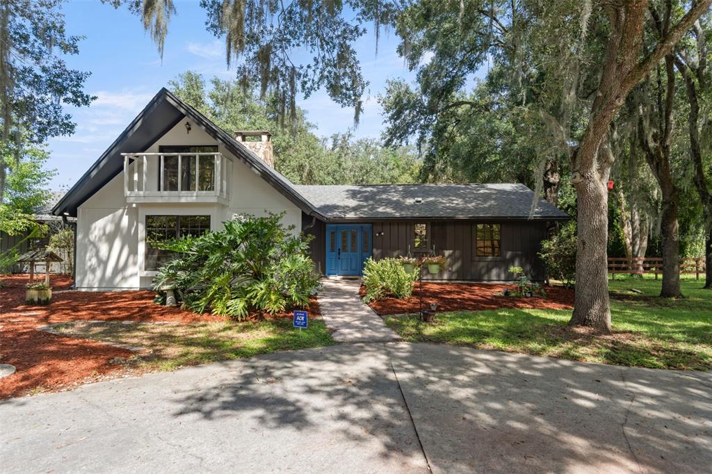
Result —
<instances>
[{"instance_id":1,"label":"dark upper-floor window behind the white balcony railing","mask_svg":"<svg viewBox=\"0 0 712 474\"><path fill-rule=\"evenodd\" d=\"M159 189L162 191L178 191L178 174L180 174L180 190L196 191L195 172L197 168L197 191L215 190L215 159L191 153L217 153L216 145L191 145L187 147L161 146L159 153L163 155L163 185L161 175L158 175ZM178 171L178 155L181 155L180 173ZM198 165L196 166L196 162ZM160 166L160 164L159 164Z\"/></svg>"}]
</instances>

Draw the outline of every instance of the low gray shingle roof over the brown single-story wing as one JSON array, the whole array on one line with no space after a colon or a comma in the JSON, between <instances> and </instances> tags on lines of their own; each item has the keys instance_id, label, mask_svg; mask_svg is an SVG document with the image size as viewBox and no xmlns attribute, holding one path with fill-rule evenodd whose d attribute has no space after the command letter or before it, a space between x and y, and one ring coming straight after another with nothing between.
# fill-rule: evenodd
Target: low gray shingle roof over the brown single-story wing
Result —
<instances>
[{"instance_id":1,"label":"low gray shingle roof over the brown single-story wing","mask_svg":"<svg viewBox=\"0 0 712 474\"><path fill-rule=\"evenodd\" d=\"M367 184L294 186L327 218L530 218L534 193L523 184ZM420 200L420 202L417 202ZM566 219L540 199L531 218Z\"/></svg>"}]
</instances>

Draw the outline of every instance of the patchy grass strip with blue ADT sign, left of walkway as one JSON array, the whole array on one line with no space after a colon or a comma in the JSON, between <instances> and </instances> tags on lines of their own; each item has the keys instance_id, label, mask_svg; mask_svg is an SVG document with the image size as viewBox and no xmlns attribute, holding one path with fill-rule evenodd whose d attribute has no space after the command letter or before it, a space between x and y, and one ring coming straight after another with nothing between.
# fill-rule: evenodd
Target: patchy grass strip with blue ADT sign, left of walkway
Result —
<instances>
[{"instance_id":1,"label":"patchy grass strip with blue ADT sign, left of walkway","mask_svg":"<svg viewBox=\"0 0 712 474\"><path fill-rule=\"evenodd\" d=\"M292 327L290 319L193 324L78 321L53 325L53 330L70 337L142 347L134 357L115 362L159 370L334 343L322 320L310 320L306 330Z\"/></svg>"}]
</instances>

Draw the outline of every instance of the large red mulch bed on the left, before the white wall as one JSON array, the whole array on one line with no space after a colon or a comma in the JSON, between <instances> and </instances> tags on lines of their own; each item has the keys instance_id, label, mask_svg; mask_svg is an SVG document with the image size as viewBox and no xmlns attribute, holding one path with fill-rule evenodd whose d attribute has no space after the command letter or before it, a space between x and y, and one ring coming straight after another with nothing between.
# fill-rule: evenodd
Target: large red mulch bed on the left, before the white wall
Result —
<instances>
[{"instance_id":1,"label":"large red mulch bed on the left, before the white wall","mask_svg":"<svg viewBox=\"0 0 712 474\"><path fill-rule=\"evenodd\" d=\"M131 357L130 351L49 334L37 330L38 326L80 320L190 323L223 319L156 305L150 291L57 293L71 287L72 280L66 275L51 275L51 305L26 305L28 275L0 275L0 280L0 363L16 367L14 374L0 379L0 399L33 390L63 389L106 376L121 376L130 370L110 362L115 357ZM315 299L313 304L310 312L320 314ZM291 317L291 313L274 317Z\"/></svg>"}]
</instances>

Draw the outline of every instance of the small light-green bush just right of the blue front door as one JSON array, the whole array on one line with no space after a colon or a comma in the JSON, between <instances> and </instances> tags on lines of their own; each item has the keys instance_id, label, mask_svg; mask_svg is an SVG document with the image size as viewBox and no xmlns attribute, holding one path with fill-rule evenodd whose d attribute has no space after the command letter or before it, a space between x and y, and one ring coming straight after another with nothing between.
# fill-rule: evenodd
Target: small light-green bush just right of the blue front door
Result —
<instances>
[{"instance_id":1,"label":"small light-green bush just right of the blue front door","mask_svg":"<svg viewBox=\"0 0 712 474\"><path fill-rule=\"evenodd\" d=\"M371 302L389 296L401 300L407 298L413 293L417 278L418 272L406 273L402 261L397 258L369 258L363 269L364 300Z\"/></svg>"}]
</instances>

